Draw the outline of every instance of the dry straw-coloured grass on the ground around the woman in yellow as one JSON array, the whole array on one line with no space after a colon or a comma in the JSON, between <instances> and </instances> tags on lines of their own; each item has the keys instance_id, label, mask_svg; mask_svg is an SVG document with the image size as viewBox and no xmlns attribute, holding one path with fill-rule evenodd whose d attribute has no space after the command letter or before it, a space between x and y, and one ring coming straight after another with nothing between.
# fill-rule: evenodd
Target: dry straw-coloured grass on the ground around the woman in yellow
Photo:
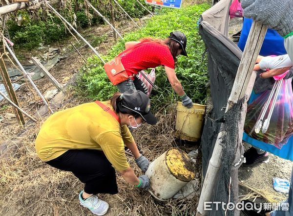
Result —
<instances>
[{"instance_id":1,"label":"dry straw-coloured grass on the ground around the woman in yellow","mask_svg":"<svg viewBox=\"0 0 293 216\"><path fill-rule=\"evenodd\" d=\"M161 113L163 111L161 110ZM167 107L158 115L155 126L143 125L134 132L138 145L143 146L151 161L176 146L174 142L175 109ZM81 207L78 193L83 184L71 173L52 168L35 153L34 141L42 122L27 128L22 145L9 158L0 160L0 215L1 216L85 216L90 212ZM15 136L0 131L0 137ZM13 140L13 139L11 139ZM187 150L184 147L181 147ZM133 158L128 158L137 175L142 174ZM110 203L108 216L185 216L195 211L198 197L192 200L160 202L137 189L117 174L119 193L101 195Z\"/></svg>"}]
</instances>

